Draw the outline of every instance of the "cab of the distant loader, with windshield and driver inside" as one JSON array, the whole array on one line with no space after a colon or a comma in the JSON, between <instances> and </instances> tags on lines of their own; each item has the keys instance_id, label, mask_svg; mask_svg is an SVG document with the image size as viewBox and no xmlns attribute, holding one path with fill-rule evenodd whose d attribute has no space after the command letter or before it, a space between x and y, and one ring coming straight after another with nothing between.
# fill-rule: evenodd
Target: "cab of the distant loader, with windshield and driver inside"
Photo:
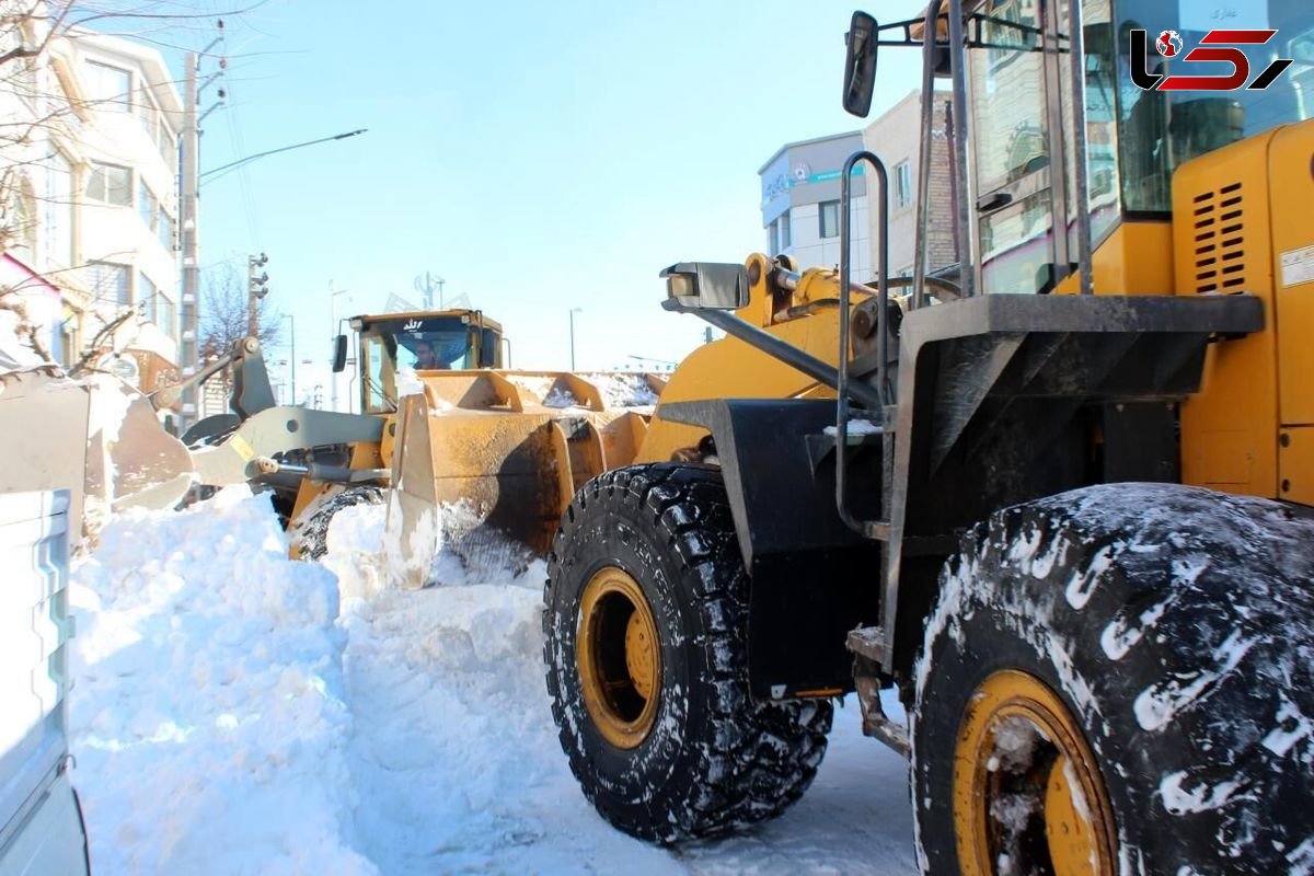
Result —
<instances>
[{"instance_id":1,"label":"cab of the distant loader, with windshield and driver inside","mask_svg":"<svg viewBox=\"0 0 1314 876\"><path fill-rule=\"evenodd\" d=\"M398 373L502 366L502 327L478 310L356 317L361 410L397 411Z\"/></svg>"}]
</instances>

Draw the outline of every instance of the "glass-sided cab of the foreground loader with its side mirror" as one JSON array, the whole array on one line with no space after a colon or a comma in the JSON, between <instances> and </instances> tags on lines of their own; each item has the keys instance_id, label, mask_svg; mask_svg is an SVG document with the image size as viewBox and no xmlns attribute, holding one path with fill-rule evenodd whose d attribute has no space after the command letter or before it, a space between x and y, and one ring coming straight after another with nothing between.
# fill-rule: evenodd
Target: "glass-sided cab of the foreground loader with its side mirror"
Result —
<instances>
[{"instance_id":1,"label":"glass-sided cab of the foreground loader with its side mirror","mask_svg":"<svg viewBox=\"0 0 1314 876\"><path fill-rule=\"evenodd\" d=\"M945 56L950 5L932 3L941 12L941 46L926 63L940 77L951 72L953 59ZM1314 114L1314 5L1307 0L1083 0L1080 137L1074 137L1071 112L1067 0L964 0L962 11L967 112L953 108L962 127L949 133L950 143L958 143L954 151L962 156L951 152L950 159L955 194L966 206L958 223L964 242L959 261L972 265L972 286L983 292L1075 290L1075 281L1064 280L1080 261L1084 221L1097 253L1096 292L1172 292L1171 265L1162 263L1169 252L1163 244L1176 168ZM863 109L863 77L879 81L876 47L922 46L926 32L924 18L884 26L866 21L861 26L855 17L850 29L858 34L850 35L845 80L850 112ZM1223 28L1276 33L1263 43L1215 37L1212 42L1226 45L1234 60L1188 60L1206 34ZM1239 84L1221 79L1246 64L1248 76ZM1173 89L1158 88L1167 76L1213 79L1177 79L1169 83ZM934 100L950 95L937 91ZM1085 173L1079 177L1081 150ZM925 179L918 188L926 190ZM1084 204L1077 206L1081 189ZM1160 264L1148 264L1150 253ZM1219 284L1219 290L1227 289Z\"/></svg>"}]
</instances>

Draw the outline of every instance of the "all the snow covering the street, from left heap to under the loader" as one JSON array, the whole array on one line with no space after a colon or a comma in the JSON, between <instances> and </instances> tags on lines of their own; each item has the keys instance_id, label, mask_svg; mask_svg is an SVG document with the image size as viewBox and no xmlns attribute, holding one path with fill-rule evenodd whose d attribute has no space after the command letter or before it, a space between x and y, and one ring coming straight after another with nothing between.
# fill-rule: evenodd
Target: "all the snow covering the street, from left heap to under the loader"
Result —
<instances>
[{"instance_id":1,"label":"all the snow covering the street, from left heap to under the loader","mask_svg":"<svg viewBox=\"0 0 1314 876\"><path fill-rule=\"evenodd\" d=\"M449 558L444 586L389 590L382 508L335 517L321 567L286 561L268 500L242 493L117 517L75 573L74 776L99 873L916 872L907 766L851 697L782 818L640 843L557 742L541 562Z\"/></svg>"}]
</instances>

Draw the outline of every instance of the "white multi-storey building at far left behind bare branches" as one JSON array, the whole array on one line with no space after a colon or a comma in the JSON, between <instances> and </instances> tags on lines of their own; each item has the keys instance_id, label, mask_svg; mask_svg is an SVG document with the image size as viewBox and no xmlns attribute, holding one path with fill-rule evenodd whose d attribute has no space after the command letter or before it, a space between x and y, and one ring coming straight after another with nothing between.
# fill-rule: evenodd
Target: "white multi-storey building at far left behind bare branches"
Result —
<instances>
[{"instance_id":1,"label":"white multi-storey building at far left behind bare branches","mask_svg":"<svg viewBox=\"0 0 1314 876\"><path fill-rule=\"evenodd\" d=\"M7 47L45 42L32 21L0 34ZM24 292L53 311L32 317L57 361L108 347L97 364L145 390L177 362L180 121L163 56L129 39L74 30L0 68L4 256L39 278Z\"/></svg>"}]
</instances>

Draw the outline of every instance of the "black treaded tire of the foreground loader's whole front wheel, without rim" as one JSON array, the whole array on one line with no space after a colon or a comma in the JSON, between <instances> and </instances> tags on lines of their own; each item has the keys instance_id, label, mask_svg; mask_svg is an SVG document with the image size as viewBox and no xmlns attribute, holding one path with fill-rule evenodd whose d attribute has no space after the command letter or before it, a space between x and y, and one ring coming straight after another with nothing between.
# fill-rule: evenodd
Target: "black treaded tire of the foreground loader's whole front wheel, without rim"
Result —
<instances>
[{"instance_id":1,"label":"black treaded tire of the foreground loader's whole front wheel, without rim","mask_svg":"<svg viewBox=\"0 0 1314 876\"><path fill-rule=\"evenodd\" d=\"M581 692L581 595L602 569L632 577L656 620L656 716L636 747L612 745ZM548 559L548 693L585 797L652 842L708 837L784 812L816 775L829 700L754 701L746 666L749 579L715 468L608 471L576 495Z\"/></svg>"}]
</instances>

